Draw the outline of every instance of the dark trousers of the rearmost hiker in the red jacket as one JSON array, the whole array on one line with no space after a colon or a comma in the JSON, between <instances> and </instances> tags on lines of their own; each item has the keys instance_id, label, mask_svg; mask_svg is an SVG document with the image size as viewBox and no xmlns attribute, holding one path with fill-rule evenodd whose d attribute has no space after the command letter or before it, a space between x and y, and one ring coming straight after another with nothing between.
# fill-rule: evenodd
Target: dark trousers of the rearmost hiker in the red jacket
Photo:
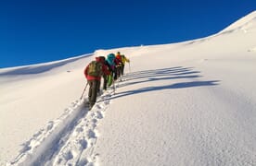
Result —
<instances>
[{"instance_id":1,"label":"dark trousers of the rearmost hiker in the red jacket","mask_svg":"<svg viewBox=\"0 0 256 166\"><path fill-rule=\"evenodd\" d=\"M98 90L98 85L100 84L99 80L89 80L88 84L90 86L88 98L89 98L89 109L91 110L92 107L96 103L96 93Z\"/></svg>"}]
</instances>

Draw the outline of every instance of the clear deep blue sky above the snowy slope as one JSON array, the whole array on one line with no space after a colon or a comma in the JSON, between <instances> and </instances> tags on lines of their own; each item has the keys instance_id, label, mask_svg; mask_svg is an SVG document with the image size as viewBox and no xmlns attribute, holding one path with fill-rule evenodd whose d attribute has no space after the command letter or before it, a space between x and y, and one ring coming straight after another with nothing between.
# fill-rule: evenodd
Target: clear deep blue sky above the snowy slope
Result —
<instances>
[{"instance_id":1,"label":"clear deep blue sky above the snowy slope","mask_svg":"<svg viewBox=\"0 0 256 166\"><path fill-rule=\"evenodd\" d=\"M255 9L256 0L1 1L0 68L206 37Z\"/></svg>"}]
</instances>

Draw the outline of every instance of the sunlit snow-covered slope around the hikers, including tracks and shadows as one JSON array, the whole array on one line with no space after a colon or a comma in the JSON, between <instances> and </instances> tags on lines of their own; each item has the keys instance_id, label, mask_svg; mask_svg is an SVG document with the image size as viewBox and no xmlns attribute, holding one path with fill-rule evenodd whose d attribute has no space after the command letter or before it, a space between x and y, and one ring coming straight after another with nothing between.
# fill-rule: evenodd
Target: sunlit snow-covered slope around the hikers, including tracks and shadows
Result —
<instances>
[{"instance_id":1,"label":"sunlit snow-covered slope around the hikers, including tracks and shadows","mask_svg":"<svg viewBox=\"0 0 256 166\"><path fill-rule=\"evenodd\" d=\"M0 69L0 165L256 165L256 12L207 38ZM88 111L83 68L120 51Z\"/></svg>"}]
</instances>

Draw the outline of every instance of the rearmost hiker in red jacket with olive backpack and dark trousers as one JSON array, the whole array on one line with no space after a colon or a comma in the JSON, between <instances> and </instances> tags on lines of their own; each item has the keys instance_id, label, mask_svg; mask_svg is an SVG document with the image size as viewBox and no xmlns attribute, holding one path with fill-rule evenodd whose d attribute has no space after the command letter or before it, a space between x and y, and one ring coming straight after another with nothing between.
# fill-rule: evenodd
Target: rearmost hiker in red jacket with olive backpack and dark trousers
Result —
<instances>
[{"instance_id":1,"label":"rearmost hiker in red jacket with olive backpack and dark trousers","mask_svg":"<svg viewBox=\"0 0 256 166\"><path fill-rule=\"evenodd\" d=\"M104 65L104 61L101 58L96 57L95 61L92 61L89 65L87 65L84 69L84 75L89 84L89 110L96 103L96 95L100 87L100 79L103 75L109 75L109 70L107 66Z\"/></svg>"}]
</instances>

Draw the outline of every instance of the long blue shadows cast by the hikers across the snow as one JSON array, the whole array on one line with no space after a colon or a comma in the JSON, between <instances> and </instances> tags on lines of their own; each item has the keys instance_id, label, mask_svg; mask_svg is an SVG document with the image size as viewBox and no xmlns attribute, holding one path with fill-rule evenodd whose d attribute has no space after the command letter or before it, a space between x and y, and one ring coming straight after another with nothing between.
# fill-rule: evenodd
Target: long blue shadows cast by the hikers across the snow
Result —
<instances>
[{"instance_id":1,"label":"long blue shadows cast by the hikers across the snow","mask_svg":"<svg viewBox=\"0 0 256 166\"><path fill-rule=\"evenodd\" d=\"M198 75L199 71L193 71L193 67L183 67L183 66L176 66L170 68L161 68L155 70L144 70L129 73L122 78L125 80L121 85L118 87L130 86L134 84L140 84L145 82L152 82L152 81L160 81L160 80L170 80L170 79L182 79L182 78L197 78L202 77ZM151 86L142 89L134 89L116 93L115 96L112 96L110 99L117 99L124 96L134 95L138 93L145 93L149 91L157 91L162 89L187 89L187 88L195 88L195 87L203 87L203 86L216 86L220 80L207 80L207 81L186 81L180 83L174 83L171 85L164 85L164 86ZM157 83L156 83L157 85Z\"/></svg>"}]
</instances>

